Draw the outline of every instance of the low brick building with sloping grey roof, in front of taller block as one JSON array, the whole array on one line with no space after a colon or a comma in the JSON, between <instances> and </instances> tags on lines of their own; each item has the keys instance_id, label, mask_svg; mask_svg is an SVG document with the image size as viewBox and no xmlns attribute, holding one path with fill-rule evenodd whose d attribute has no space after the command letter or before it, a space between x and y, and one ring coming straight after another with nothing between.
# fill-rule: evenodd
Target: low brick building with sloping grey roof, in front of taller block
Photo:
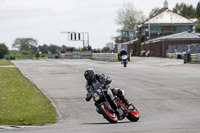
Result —
<instances>
[{"instance_id":1,"label":"low brick building with sloping grey roof, in front of taller block","mask_svg":"<svg viewBox=\"0 0 200 133\"><path fill-rule=\"evenodd\" d=\"M142 43L145 51L150 51L150 56L169 57L169 54L183 58L182 54L200 53L200 36L193 32L181 32L150 39ZM193 47L193 49L191 49Z\"/></svg>"}]
</instances>

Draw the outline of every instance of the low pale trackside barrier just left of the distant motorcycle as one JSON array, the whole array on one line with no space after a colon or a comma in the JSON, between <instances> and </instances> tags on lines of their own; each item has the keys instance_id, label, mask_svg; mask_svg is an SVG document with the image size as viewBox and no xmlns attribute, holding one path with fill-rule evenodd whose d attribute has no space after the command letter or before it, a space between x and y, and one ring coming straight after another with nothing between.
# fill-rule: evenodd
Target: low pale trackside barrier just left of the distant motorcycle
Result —
<instances>
[{"instance_id":1,"label":"low pale trackside barrier just left of the distant motorcycle","mask_svg":"<svg viewBox=\"0 0 200 133\"><path fill-rule=\"evenodd\" d=\"M119 61L117 53L92 53L92 59L97 61Z\"/></svg>"}]
</instances>

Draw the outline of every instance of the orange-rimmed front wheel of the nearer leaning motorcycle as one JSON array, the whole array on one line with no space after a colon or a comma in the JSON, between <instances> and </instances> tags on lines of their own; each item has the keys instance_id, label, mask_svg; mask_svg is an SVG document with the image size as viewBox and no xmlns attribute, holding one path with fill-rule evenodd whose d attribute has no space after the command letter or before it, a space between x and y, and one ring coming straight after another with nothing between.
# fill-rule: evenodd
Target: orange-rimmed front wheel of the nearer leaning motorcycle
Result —
<instances>
[{"instance_id":1,"label":"orange-rimmed front wheel of the nearer leaning motorcycle","mask_svg":"<svg viewBox=\"0 0 200 133\"><path fill-rule=\"evenodd\" d=\"M117 123L118 122L117 115L115 113L110 112L105 104L101 104L99 106L99 111L104 116L104 118L107 121L109 121L110 123Z\"/></svg>"}]
</instances>

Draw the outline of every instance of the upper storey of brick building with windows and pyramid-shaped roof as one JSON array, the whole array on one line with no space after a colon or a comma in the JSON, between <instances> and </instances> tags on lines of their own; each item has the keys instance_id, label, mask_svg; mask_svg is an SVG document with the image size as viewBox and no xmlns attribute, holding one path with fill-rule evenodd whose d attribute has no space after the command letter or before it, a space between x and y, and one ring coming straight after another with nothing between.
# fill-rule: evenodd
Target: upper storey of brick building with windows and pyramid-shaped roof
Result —
<instances>
[{"instance_id":1,"label":"upper storey of brick building with windows and pyramid-shaped roof","mask_svg":"<svg viewBox=\"0 0 200 133\"><path fill-rule=\"evenodd\" d=\"M145 21L140 30L146 41L160 36L194 31L195 22L166 8L158 15Z\"/></svg>"}]
</instances>

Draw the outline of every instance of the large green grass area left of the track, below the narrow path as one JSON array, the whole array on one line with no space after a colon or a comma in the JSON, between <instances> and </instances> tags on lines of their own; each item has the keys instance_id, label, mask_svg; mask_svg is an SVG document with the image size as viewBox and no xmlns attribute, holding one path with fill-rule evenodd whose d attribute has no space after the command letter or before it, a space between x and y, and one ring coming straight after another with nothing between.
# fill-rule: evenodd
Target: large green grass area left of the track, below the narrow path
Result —
<instances>
[{"instance_id":1,"label":"large green grass area left of the track, below the narrow path","mask_svg":"<svg viewBox=\"0 0 200 133\"><path fill-rule=\"evenodd\" d=\"M17 68L0 68L0 125L54 123L49 101Z\"/></svg>"}]
</instances>

